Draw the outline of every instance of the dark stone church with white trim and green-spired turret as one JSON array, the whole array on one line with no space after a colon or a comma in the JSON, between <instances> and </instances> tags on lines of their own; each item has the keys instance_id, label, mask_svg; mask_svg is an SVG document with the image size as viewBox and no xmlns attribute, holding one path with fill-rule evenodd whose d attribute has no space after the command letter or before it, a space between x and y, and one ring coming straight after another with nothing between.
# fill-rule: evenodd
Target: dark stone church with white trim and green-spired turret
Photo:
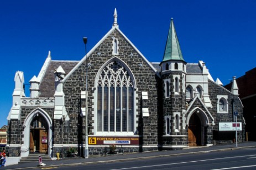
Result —
<instances>
[{"instance_id":1,"label":"dark stone church with white trim and green-spired turret","mask_svg":"<svg viewBox=\"0 0 256 170\"><path fill-rule=\"evenodd\" d=\"M55 61L49 52L29 81L29 97L24 73L16 72L9 157L56 157L71 147L84 156L86 142L89 155L102 155L111 145L143 152L234 142L234 112L243 141L236 80L228 91L203 61L187 63L173 19L167 31L164 56L152 63L119 29L115 9L112 28L81 61Z\"/></svg>"}]
</instances>

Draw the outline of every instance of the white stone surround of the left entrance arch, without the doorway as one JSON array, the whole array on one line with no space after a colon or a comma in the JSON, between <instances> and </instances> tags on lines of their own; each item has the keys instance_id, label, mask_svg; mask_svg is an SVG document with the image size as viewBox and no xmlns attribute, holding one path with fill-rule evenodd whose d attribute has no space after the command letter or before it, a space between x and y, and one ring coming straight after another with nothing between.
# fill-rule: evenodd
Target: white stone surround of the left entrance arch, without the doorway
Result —
<instances>
[{"instance_id":1,"label":"white stone surround of the left entrance arch, without the doorway","mask_svg":"<svg viewBox=\"0 0 256 170\"><path fill-rule=\"evenodd\" d=\"M21 147L21 150L20 150L20 156L21 157L27 157L29 156L29 144L30 144L30 124L32 123L32 120L35 116L37 116L38 114L40 114L40 116L42 116L47 125L48 125L48 155L49 157L51 157L51 147L52 147L52 144L53 144L53 141L52 141L52 130L51 130L51 127L52 127L52 120L49 116L48 113L46 113L43 109L41 108L36 108L34 109L32 112L30 112L28 114L28 116L25 118L24 120L24 124L22 125L24 127L24 131L23 131L23 144L22 144L22 147Z\"/></svg>"}]
</instances>

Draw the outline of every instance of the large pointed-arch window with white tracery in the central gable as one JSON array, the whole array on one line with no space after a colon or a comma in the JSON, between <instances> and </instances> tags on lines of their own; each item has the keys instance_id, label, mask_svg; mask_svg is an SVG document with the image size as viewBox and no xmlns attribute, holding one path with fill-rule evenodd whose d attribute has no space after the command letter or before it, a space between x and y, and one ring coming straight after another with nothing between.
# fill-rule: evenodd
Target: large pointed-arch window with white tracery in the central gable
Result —
<instances>
[{"instance_id":1,"label":"large pointed-arch window with white tracery in the central gable","mask_svg":"<svg viewBox=\"0 0 256 170\"><path fill-rule=\"evenodd\" d=\"M123 64L107 64L97 80L97 89L97 131L133 131L134 85Z\"/></svg>"}]
</instances>

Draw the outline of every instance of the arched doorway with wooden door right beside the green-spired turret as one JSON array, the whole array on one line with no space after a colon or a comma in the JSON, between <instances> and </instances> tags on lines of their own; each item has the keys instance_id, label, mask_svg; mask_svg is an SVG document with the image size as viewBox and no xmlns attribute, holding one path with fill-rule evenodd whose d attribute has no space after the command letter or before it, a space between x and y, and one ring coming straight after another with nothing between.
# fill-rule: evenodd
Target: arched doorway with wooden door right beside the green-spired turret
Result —
<instances>
[{"instance_id":1,"label":"arched doorway with wooden door right beside the green-spired turret","mask_svg":"<svg viewBox=\"0 0 256 170\"><path fill-rule=\"evenodd\" d=\"M200 118L194 113L189 120L189 146L200 146L201 141L201 122Z\"/></svg>"}]
</instances>

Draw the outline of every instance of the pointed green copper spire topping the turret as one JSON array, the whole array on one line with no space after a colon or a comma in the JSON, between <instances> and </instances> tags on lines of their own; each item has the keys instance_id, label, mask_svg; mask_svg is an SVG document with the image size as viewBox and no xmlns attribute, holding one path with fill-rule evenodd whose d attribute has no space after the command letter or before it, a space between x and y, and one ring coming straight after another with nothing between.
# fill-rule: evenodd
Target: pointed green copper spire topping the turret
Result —
<instances>
[{"instance_id":1,"label":"pointed green copper spire topping the turret","mask_svg":"<svg viewBox=\"0 0 256 170\"><path fill-rule=\"evenodd\" d=\"M165 45L163 62L169 60L184 61L180 50L180 43L174 28L173 18L171 18L171 25L168 33L168 38Z\"/></svg>"}]
</instances>

